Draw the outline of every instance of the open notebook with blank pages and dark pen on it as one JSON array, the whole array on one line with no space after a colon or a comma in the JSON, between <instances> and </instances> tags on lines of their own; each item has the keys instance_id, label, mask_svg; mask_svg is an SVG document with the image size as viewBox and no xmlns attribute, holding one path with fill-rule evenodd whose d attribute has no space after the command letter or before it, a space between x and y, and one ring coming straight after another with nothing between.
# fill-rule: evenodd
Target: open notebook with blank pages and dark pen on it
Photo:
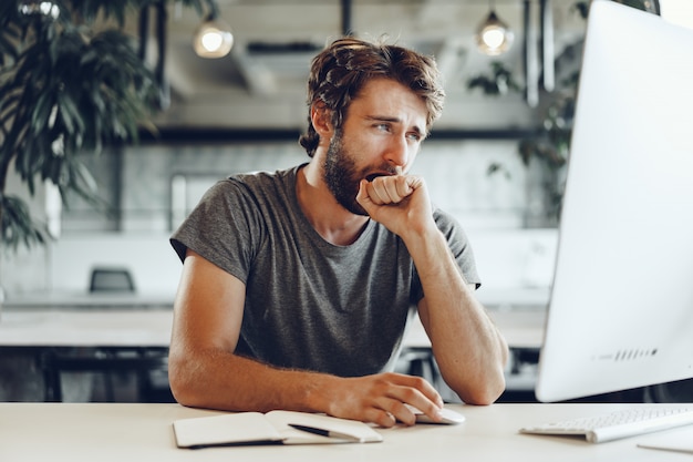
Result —
<instances>
[{"instance_id":1,"label":"open notebook with blank pages and dark pen on it","mask_svg":"<svg viewBox=\"0 0 693 462\"><path fill-rule=\"evenodd\" d=\"M363 422L294 411L179 419L174 421L173 427L176 445L188 449L248 444L371 443L383 440L380 433Z\"/></svg>"}]
</instances>

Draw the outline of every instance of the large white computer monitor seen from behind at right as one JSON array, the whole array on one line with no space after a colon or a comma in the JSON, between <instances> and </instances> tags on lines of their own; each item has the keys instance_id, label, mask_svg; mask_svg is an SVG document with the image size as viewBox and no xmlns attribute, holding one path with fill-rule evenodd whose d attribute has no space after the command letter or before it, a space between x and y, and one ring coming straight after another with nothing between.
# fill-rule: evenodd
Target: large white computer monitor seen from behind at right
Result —
<instances>
[{"instance_id":1,"label":"large white computer monitor seen from behind at right","mask_svg":"<svg viewBox=\"0 0 693 462\"><path fill-rule=\"evenodd\" d=\"M693 377L693 31L593 1L536 396Z\"/></svg>"}]
</instances>

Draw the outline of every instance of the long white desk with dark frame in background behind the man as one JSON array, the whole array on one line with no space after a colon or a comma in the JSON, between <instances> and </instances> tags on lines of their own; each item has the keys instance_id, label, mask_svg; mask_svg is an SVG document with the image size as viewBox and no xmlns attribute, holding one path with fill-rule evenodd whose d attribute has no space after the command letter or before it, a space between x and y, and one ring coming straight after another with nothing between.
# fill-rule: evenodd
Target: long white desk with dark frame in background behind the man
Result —
<instances>
[{"instance_id":1,"label":"long white desk with dark frame in background behind the man","mask_svg":"<svg viewBox=\"0 0 693 462\"><path fill-rule=\"evenodd\" d=\"M155 349L157 357L164 357L170 342L173 325L172 308L126 308L126 298L110 298L114 306L97 308L62 305L37 308L34 305L13 306L0 316L0 348L20 348L33 355L44 371L45 400L60 400L60 371L105 370L112 367L144 368L152 361L145 359L92 361L92 357L75 357L71 366L56 361L59 349L74 347L94 349ZM142 301L142 300L141 300ZM61 304L65 302L61 299ZM120 304L120 305L118 305ZM546 311L490 310L490 316L504 332L511 348L539 348L544 335ZM431 347L428 337L418 320L404 339L405 348L426 349ZM71 353L68 353L70 357ZM165 359L154 360L165 362ZM158 362L157 362L158 361ZM158 367L158 366L157 366ZM69 369L72 368L72 369ZM422 373L424 371L421 371ZM433 373L433 371L428 371ZM427 376L425 376L427 377ZM433 377L427 377L430 380ZM534 388L534 376L513 373L508 378L508 390L528 391Z\"/></svg>"}]
</instances>

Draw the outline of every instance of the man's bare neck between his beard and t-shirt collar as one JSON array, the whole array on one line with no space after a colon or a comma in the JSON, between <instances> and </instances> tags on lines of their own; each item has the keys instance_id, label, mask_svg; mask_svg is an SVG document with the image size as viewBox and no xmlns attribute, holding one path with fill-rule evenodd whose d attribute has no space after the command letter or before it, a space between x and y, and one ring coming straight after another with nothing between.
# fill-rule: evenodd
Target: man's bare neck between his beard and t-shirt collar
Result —
<instances>
[{"instance_id":1,"label":"man's bare neck between his beard and t-shirt collar","mask_svg":"<svg viewBox=\"0 0 693 462\"><path fill-rule=\"evenodd\" d=\"M314 161L299 168L296 194L308 222L330 244L353 244L369 222L369 217L352 214L337 202Z\"/></svg>"}]
</instances>

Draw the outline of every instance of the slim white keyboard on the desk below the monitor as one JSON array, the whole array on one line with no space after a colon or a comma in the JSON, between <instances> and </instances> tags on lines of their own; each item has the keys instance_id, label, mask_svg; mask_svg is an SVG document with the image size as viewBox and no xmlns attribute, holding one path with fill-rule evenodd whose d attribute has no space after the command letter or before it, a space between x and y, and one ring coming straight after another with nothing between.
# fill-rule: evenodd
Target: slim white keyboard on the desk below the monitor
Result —
<instances>
[{"instance_id":1,"label":"slim white keyboard on the desk below the monitor","mask_svg":"<svg viewBox=\"0 0 693 462\"><path fill-rule=\"evenodd\" d=\"M693 424L693 408L633 408L520 429L520 433L583 435L590 443Z\"/></svg>"}]
</instances>

